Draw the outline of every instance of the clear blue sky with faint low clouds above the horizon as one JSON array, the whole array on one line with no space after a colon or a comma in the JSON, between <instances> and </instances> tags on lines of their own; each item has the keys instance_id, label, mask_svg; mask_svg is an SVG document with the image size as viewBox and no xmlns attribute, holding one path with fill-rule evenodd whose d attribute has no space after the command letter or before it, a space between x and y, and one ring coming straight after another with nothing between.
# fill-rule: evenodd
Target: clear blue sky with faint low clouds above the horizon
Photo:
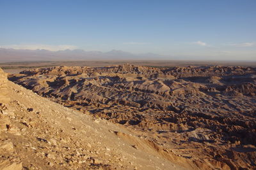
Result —
<instances>
[{"instance_id":1,"label":"clear blue sky with faint low clouds above the horizon","mask_svg":"<svg viewBox=\"0 0 256 170\"><path fill-rule=\"evenodd\" d=\"M0 47L256 60L255 0L0 0Z\"/></svg>"}]
</instances>

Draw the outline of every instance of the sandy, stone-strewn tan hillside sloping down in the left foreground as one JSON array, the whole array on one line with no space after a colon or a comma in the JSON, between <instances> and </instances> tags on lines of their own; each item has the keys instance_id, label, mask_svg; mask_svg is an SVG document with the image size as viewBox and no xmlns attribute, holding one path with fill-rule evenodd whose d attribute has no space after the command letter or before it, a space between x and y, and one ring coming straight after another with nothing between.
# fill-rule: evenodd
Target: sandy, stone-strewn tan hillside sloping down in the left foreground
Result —
<instances>
[{"instance_id":1,"label":"sandy, stone-strewn tan hillside sloping down in the left foreground","mask_svg":"<svg viewBox=\"0 0 256 170\"><path fill-rule=\"evenodd\" d=\"M3 72L1 72L3 74ZM1 101L0 169L182 169L153 141L7 81ZM136 145L136 146L135 146ZM189 163L175 161L193 169Z\"/></svg>"}]
</instances>

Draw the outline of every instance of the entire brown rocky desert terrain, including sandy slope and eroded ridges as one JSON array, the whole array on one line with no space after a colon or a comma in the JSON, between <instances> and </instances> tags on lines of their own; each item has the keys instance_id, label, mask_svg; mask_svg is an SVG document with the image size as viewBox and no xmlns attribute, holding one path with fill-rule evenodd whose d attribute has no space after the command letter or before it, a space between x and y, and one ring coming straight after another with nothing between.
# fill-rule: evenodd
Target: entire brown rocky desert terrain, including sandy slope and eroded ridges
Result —
<instances>
[{"instance_id":1,"label":"entire brown rocky desert terrain, including sandy slope and eroded ridges","mask_svg":"<svg viewBox=\"0 0 256 170\"><path fill-rule=\"evenodd\" d=\"M1 76L10 97L2 169L256 168L255 67L52 66Z\"/></svg>"}]
</instances>

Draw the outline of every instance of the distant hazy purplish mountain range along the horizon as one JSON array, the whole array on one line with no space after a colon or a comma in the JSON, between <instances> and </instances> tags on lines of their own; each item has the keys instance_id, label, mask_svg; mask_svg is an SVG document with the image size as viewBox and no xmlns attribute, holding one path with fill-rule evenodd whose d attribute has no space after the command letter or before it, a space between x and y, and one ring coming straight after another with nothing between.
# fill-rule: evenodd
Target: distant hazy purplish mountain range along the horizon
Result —
<instances>
[{"instance_id":1,"label":"distant hazy purplish mountain range along the horizon","mask_svg":"<svg viewBox=\"0 0 256 170\"><path fill-rule=\"evenodd\" d=\"M122 50L109 52L84 50L15 50L0 48L0 62L10 61L45 61L45 60L108 60L108 59L164 59L166 56L155 53L134 54Z\"/></svg>"}]
</instances>

